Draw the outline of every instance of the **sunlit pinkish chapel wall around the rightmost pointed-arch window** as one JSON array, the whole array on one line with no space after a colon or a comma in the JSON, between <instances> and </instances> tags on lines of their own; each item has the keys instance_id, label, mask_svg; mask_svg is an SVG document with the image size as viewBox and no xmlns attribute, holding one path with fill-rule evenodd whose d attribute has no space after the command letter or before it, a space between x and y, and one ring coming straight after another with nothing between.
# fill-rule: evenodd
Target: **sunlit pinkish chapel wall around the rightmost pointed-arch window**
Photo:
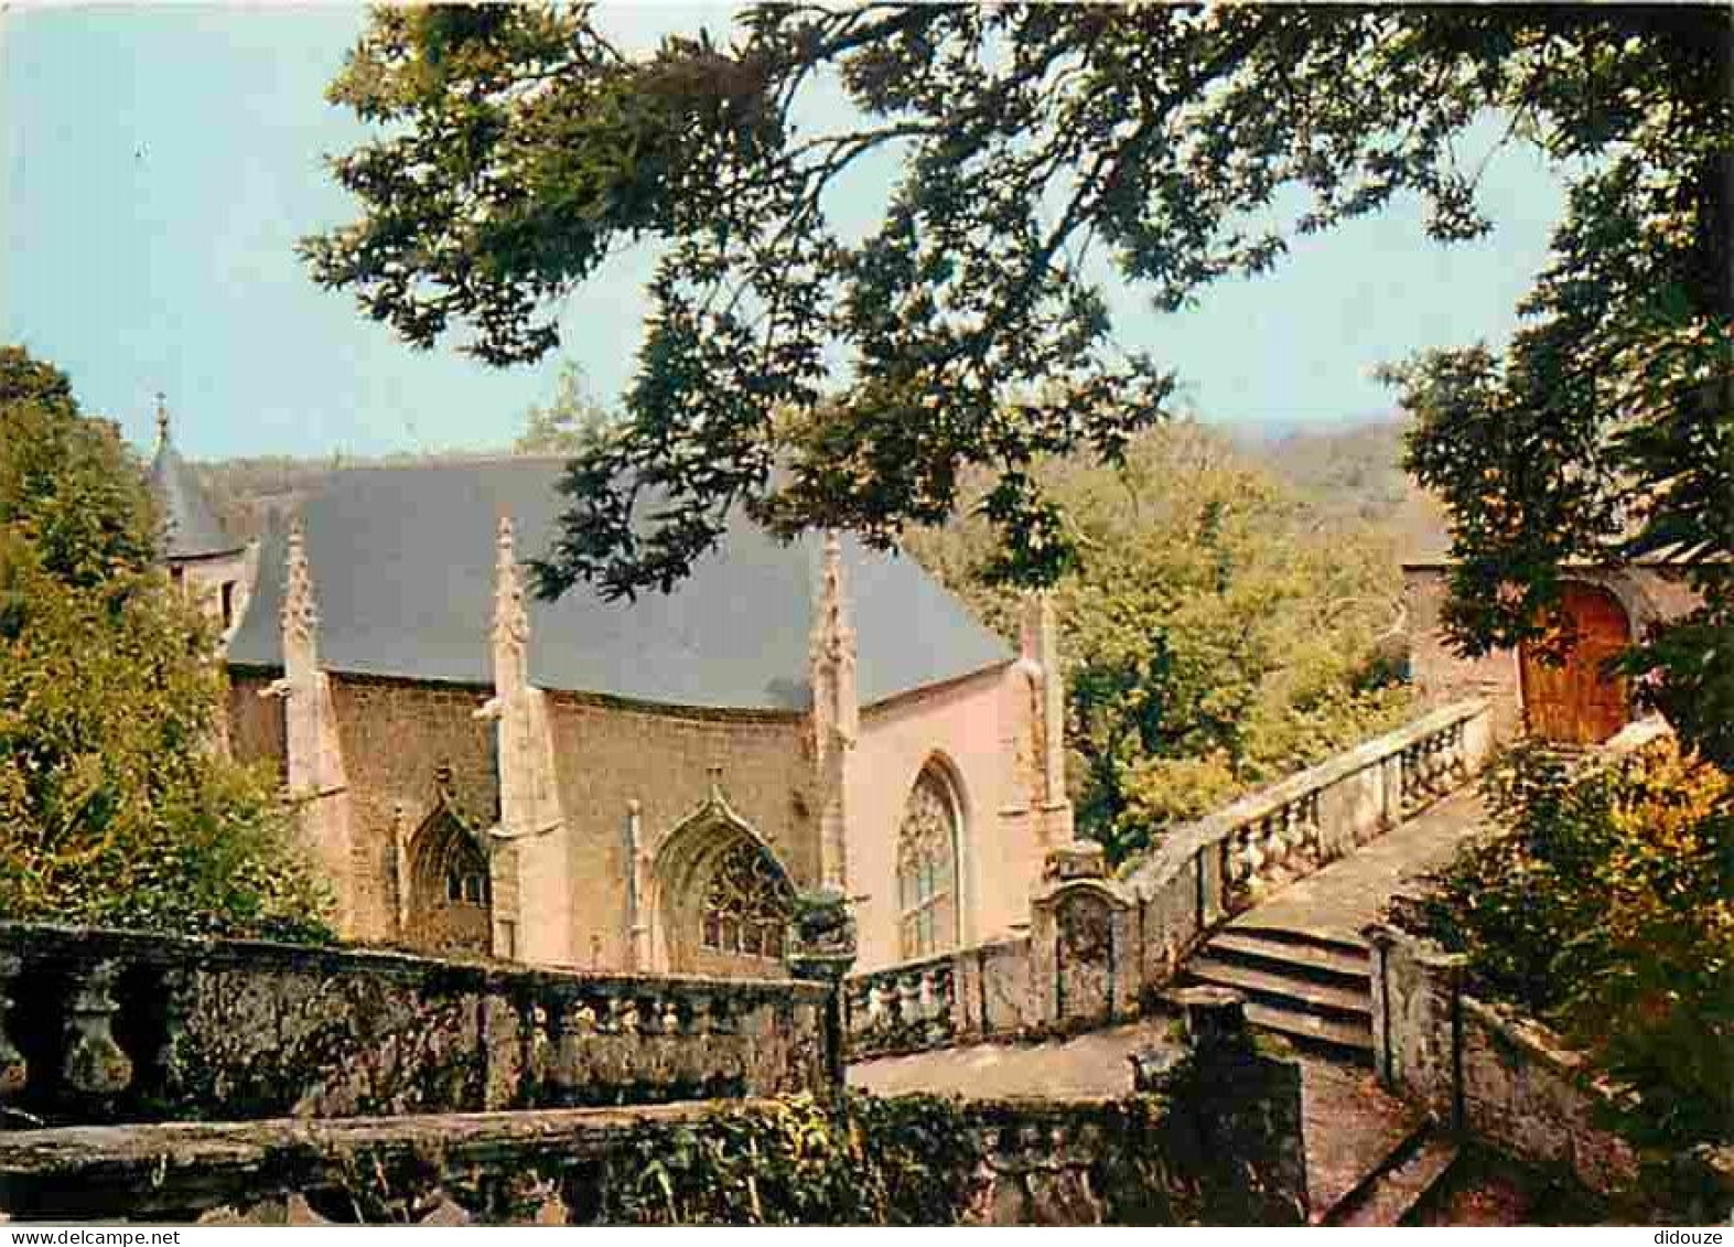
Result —
<instances>
[{"instance_id":1,"label":"sunlit pinkish chapel wall around the rightmost pointed-arch window","mask_svg":"<svg viewBox=\"0 0 1734 1247\"><path fill-rule=\"evenodd\" d=\"M1014 664L862 709L848 806L857 971L900 959L896 834L921 768L943 760L961 789L962 945L1028 921L1044 846L1032 806L1032 699Z\"/></svg>"}]
</instances>

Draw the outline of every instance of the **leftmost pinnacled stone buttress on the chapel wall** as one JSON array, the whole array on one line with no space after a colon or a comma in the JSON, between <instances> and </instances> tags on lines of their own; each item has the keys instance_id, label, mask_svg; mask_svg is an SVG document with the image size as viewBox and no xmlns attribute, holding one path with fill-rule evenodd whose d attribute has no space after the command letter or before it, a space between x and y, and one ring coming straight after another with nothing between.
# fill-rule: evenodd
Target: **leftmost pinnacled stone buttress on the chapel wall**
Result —
<instances>
[{"instance_id":1,"label":"leftmost pinnacled stone buttress on the chapel wall","mask_svg":"<svg viewBox=\"0 0 1734 1247\"><path fill-rule=\"evenodd\" d=\"M283 680L267 689L284 699L290 801L302 841L331 886L340 935L357 935L349 831L349 779L331 708L331 682L319 666L319 605L302 522L290 527L283 590Z\"/></svg>"}]
</instances>

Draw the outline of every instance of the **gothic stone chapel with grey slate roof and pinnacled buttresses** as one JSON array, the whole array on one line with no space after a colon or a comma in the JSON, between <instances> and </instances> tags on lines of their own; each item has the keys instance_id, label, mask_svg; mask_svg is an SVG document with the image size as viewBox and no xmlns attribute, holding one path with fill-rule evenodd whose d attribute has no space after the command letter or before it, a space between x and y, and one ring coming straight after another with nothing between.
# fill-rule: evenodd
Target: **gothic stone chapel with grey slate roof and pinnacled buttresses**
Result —
<instances>
[{"instance_id":1,"label":"gothic stone chapel with grey slate roof and pinnacled buttresses","mask_svg":"<svg viewBox=\"0 0 1734 1247\"><path fill-rule=\"evenodd\" d=\"M163 421L165 557L224 612L229 748L279 768L347 938L763 976L822 886L857 970L1025 921L1072 839L1044 600L1011 654L907 557L742 522L669 595L541 602L558 475L342 470L241 548Z\"/></svg>"}]
</instances>

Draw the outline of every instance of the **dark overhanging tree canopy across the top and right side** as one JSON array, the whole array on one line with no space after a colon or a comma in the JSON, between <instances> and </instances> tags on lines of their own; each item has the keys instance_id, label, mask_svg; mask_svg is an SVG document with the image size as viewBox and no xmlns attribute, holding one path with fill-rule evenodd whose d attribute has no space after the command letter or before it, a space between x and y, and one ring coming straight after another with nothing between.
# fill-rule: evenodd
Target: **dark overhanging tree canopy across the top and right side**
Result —
<instances>
[{"instance_id":1,"label":"dark overhanging tree canopy across the top and right side","mask_svg":"<svg viewBox=\"0 0 1734 1247\"><path fill-rule=\"evenodd\" d=\"M506 364L558 345L562 295L610 253L659 246L624 421L572 463L548 593L666 588L735 506L891 541L966 472L990 479L997 571L1053 583L1079 548L1032 463L1117 463L1174 382L1117 349L1106 269L1176 309L1399 193L1472 238L1463 147L1495 116L1559 163L1569 212L1509 352L1398 375L1411 467L1457 513L1448 624L1505 643L1562 560L1668 546L1713 638L1729 26L1724 5L753 5L727 43L626 54L584 5L394 9L329 92L376 127L333 160L362 217L303 250L409 342ZM815 125L836 88L846 120ZM876 156L896 177L851 234L838 196L860 203Z\"/></svg>"}]
</instances>

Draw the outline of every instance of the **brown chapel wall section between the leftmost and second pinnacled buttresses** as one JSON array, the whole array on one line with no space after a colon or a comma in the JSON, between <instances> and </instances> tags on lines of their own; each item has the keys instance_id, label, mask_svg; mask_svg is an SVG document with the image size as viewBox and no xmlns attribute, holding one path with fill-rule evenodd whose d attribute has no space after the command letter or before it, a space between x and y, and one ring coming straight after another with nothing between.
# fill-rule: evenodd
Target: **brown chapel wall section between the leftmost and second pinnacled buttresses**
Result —
<instances>
[{"instance_id":1,"label":"brown chapel wall section between the leftmost and second pinnacled buttresses","mask_svg":"<svg viewBox=\"0 0 1734 1247\"><path fill-rule=\"evenodd\" d=\"M350 801L350 912L357 940L399 942L397 806L416 832L439 805L435 772L451 767L451 793L477 829L494 822L494 725L473 718L491 689L331 676ZM407 883L407 881L406 881Z\"/></svg>"}]
</instances>

